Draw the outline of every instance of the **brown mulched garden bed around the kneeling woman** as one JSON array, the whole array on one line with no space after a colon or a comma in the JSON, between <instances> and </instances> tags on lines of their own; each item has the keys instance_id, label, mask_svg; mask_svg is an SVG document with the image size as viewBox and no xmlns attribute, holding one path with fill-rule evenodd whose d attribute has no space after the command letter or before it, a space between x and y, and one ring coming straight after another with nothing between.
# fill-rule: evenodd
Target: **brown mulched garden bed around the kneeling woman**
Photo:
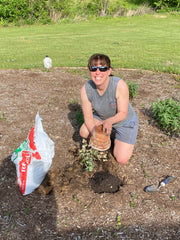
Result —
<instances>
[{"instance_id":1,"label":"brown mulched garden bed around the kneeling woman","mask_svg":"<svg viewBox=\"0 0 180 240\"><path fill-rule=\"evenodd\" d=\"M180 139L158 129L150 112L157 98L179 100L179 76L125 69L113 74L139 85L131 101L139 118L138 138L128 164L119 165L110 149L108 161L96 161L89 172L78 161L81 138L73 104L80 102L87 69L0 71L0 239L179 239ZM22 196L10 156L38 111L55 142L55 157L40 188ZM171 175L173 183L144 192ZM111 189L111 180L114 193L94 191L92 186L101 184Z\"/></svg>"}]
</instances>

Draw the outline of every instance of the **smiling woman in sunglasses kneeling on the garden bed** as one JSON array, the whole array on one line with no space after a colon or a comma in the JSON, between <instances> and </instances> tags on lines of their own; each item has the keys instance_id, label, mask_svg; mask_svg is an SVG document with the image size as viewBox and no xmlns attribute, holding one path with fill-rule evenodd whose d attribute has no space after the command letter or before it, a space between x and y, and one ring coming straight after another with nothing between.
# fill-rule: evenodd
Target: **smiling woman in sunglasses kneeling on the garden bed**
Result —
<instances>
[{"instance_id":1,"label":"smiling woman in sunglasses kneeling on the garden bed","mask_svg":"<svg viewBox=\"0 0 180 240\"><path fill-rule=\"evenodd\" d=\"M122 79L111 76L111 62L104 54L90 57L88 68L91 80L81 88L81 105L84 124L80 135L88 138L95 126L103 124L103 130L115 131L113 154L125 164L133 153L138 132L138 118L129 103L128 86Z\"/></svg>"}]
</instances>

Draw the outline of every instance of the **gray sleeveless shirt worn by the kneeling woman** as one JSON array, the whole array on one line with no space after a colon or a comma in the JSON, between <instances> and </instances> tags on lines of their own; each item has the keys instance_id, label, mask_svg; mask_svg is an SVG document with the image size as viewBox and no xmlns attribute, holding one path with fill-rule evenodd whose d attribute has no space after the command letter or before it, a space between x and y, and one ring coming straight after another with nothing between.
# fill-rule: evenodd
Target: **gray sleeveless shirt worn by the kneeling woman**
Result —
<instances>
[{"instance_id":1,"label":"gray sleeveless shirt worn by the kneeling woman","mask_svg":"<svg viewBox=\"0 0 180 240\"><path fill-rule=\"evenodd\" d=\"M118 77L110 76L109 85L102 96L99 95L96 85L92 80L85 84L86 94L88 100L92 104L94 110L94 117L99 120L105 120L113 117L117 113L116 89L117 84L121 79ZM129 103L128 114L126 119L113 124L114 128L119 128L129 121L134 115L134 110Z\"/></svg>"}]
</instances>

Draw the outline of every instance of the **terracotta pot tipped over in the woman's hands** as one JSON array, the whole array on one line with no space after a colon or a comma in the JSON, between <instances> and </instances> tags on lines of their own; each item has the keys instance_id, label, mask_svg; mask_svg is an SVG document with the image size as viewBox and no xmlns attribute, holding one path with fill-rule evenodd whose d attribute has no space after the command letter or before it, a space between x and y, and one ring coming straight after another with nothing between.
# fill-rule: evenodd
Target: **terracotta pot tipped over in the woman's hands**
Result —
<instances>
[{"instance_id":1,"label":"terracotta pot tipped over in the woman's hands","mask_svg":"<svg viewBox=\"0 0 180 240\"><path fill-rule=\"evenodd\" d=\"M95 127L93 135L90 138L89 145L98 151L106 151L110 148L110 135L103 131L102 124Z\"/></svg>"}]
</instances>

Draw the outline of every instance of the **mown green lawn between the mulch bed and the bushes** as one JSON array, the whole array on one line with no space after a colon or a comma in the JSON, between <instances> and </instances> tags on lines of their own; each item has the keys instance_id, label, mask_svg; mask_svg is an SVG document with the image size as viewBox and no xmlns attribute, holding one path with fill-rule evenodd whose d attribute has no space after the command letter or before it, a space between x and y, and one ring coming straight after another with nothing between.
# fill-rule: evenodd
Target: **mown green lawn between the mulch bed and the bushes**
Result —
<instances>
[{"instance_id":1,"label":"mown green lawn between the mulch bed and the bushes","mask_svg":"<svg viewBox=\"0 0 180 240\"><path fill-rule=\"evenodd\" d=\"M84 67L96 52L115 68L180 73L180 17L144 15L0 28L0 69Z\"/></svg>"}]
</instances>

